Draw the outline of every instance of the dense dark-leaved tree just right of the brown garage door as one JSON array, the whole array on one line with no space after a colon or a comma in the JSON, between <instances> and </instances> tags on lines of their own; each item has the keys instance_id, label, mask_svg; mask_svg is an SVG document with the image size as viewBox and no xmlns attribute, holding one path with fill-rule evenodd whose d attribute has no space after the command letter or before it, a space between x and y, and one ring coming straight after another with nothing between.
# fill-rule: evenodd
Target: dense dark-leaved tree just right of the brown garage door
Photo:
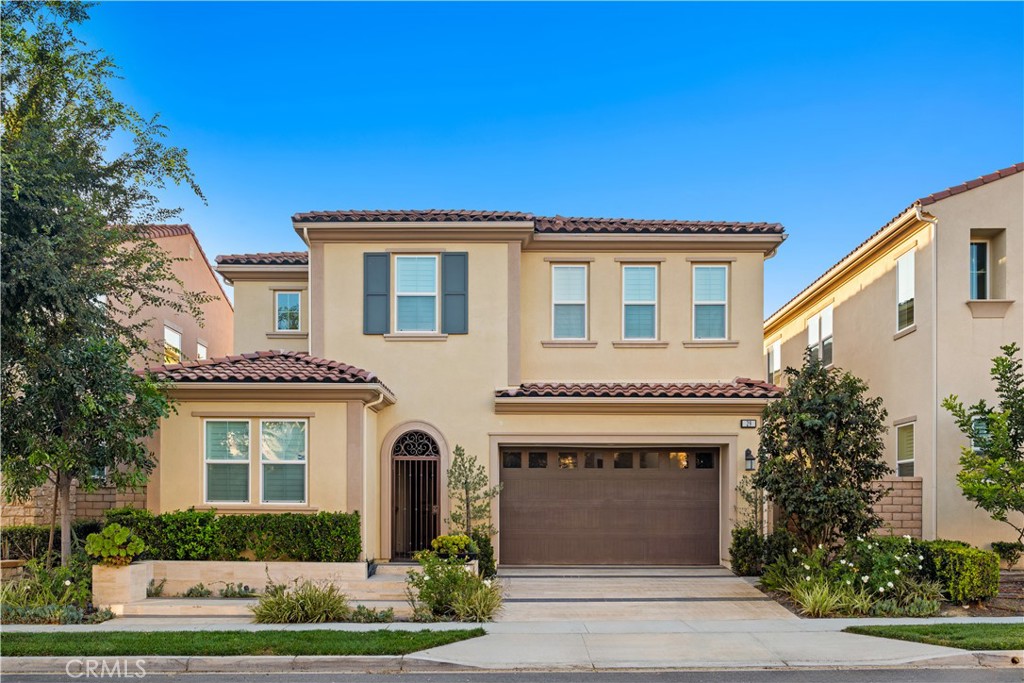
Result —
<instances>
[{"instance_id":1,"label":"dense dark-leaved tree just right of the brown garage door","mask_svg":"<svg viewBox=\"0 0 1024 683\"><path fill-rule=\"evenodd\" d=\"M872 507L886 494L872 482L892 471L883 460L886 411L862 380L810 353L785 375L782 396L764 410L753 483L805 550L833 549L882 521Z\"/></svg>"}]
</instances>

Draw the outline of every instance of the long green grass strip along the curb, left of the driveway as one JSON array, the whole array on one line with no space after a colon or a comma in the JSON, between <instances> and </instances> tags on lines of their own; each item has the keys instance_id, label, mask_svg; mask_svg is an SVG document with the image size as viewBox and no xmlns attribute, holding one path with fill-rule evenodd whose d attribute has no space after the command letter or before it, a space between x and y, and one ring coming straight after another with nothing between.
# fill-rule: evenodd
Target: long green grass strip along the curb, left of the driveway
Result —
<instances>
[{"instance_id":1,"label":"long green grass strip along the curb, left of the driveway","mask_svg":"<svg viewBox=\"0 0 1024 683\"><path fill-rule=\"evenodd\" d=\"M10 633L3 656L408 654L484 634L461 631L106 631Z\"/></svg>"}]
</instances>

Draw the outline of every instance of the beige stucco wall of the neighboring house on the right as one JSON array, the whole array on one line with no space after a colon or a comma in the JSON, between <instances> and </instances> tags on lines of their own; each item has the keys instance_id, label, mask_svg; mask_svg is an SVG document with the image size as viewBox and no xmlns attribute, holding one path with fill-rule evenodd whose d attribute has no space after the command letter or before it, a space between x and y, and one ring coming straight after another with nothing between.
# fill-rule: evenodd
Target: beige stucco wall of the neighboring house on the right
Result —
<instances>
[{"instance_id":1,"label":"beige stucco wall of the neighboring house on the right","mask_svg":"<svg viewBox=\"0 0 1024 683\"><path fill-rule=\"evenodd\" d=\"M912 221L904 239L877 255L866 268L845 276L837 287L819 287L791 317L781 318L781 325L769 326L765 346L781 339L782 367L799 367L807 345L807 319L831 303L835 365L864 379L869 393L883 397L890 426L886 455L893 468L894 423L915 418L914 472L923 479L924 537L980 546L1016 540L1009 526L990 520L961 494L955 477L967 439L940 402L949 394L968 402L978 398L991 402L991 358L1000 345L1021 344L1024 337L1024 174L923 210L926 218L938 220L936 227ZM1005 230L1006 260L996 272L1005 281L1005 297L1014 303L1001 317L975 317L968 306L972 229ZM915 330L899 336L895 258L911 247L916 252Z\"/></svg>"}]
</instances>

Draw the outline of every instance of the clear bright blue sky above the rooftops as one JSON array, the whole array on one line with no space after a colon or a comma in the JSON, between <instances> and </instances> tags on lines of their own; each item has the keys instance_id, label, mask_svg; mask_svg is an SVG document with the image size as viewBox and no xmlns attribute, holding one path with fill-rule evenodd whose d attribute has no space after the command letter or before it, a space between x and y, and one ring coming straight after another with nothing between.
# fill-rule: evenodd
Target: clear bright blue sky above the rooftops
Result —
<instances>
[{"instance_id":1,"label":"clear bright blue sky above the rooftops","mask_svg":"<svg viewBox=\"0 0 1024 683\"><path fill-rule=\"evenodd\" d=\"M1024 161L1022 3L102 3L216 254L298 211L766 220L771 312L918 197Z\"/></svg>"}]
</instances>

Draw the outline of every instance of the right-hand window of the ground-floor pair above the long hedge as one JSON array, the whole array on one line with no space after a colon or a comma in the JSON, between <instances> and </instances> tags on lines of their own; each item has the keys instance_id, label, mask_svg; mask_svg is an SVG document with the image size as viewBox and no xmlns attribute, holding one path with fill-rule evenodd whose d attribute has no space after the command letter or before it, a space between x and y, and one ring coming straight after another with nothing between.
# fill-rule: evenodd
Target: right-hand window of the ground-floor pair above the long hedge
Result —
<instances>
[{"instance_id":1,"label":"right-hand window of the ground-floor pair above the long hedge","mask_svg":"<svg viewBox=\"0 0 1024 683\"><path fill-rule=\"evenodd\" d=\"M260 420L260 502L306 502L307 422Z\"/></svg>"}]
</instances>

